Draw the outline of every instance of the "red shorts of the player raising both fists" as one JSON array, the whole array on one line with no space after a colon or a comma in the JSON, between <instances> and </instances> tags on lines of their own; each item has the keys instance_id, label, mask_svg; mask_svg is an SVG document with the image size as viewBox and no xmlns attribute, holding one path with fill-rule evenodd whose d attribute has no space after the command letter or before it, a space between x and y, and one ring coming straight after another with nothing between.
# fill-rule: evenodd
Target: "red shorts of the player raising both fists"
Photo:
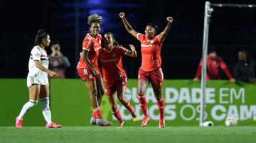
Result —
<instances>
[{"instance_id":1,"label":"red shorts of the player raising both fists","mask_svg":"<svg viewBox=\"0 0 256 143\"><path fill-rule=\"evenodd\" d=\"M138 72L138 79L144 79L146 81L149 81L157 88L161 88L161 86L163 85L164 74L161 67L159 69L155 69L154 71L144 71L140 67Z\"/></svg>"}]
</instances>

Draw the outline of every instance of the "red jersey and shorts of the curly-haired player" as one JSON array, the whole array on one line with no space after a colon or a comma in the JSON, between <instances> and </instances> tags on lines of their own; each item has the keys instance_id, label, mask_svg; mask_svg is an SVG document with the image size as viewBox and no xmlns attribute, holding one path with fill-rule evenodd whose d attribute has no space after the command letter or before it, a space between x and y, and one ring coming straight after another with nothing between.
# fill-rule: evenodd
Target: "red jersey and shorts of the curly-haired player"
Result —
<instances>
[{"instance_id":1,"label":"red jersey and shorts of the curly-haired player","mask_svg":"<svg viewBox=\"0 0 256 143\"><path fill-rule=\"evenodd\" d=\"M87 57L92 63L92 66L97 69L100 73L100 69L98 67L97 58L101 49L101 40L102 35L97 35L97 38L92 37L89 33L85 36L85 39L82 42L82 49L89 51ZM85 63L85 61L80 57L78 62L78 75L82 80L95 80L95 75L92 72L92 69ZM101 74L98 74L97 77L102 77Z\"/></svg>"}]
</instances>

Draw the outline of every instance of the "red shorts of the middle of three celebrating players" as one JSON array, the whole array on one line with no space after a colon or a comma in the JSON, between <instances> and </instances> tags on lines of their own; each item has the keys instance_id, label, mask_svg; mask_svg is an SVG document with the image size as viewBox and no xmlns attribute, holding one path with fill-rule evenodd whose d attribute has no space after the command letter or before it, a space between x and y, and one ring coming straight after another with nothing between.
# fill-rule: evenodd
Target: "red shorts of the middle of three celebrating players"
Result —
<instances>
[{"instance_id":1,"label":"red shorts of the middle of three celebrating players","mask_svg":"<svg viewBox=\"0 0 256 143\"><path fill-rule=\"evenodd\" d=\"M105 86L106 95L111 96L117 91L118 87L127 86L127 76L122 77L122 79L119 79L112 84L104 83L104 86Z\"/></svg>"}]
</instances>

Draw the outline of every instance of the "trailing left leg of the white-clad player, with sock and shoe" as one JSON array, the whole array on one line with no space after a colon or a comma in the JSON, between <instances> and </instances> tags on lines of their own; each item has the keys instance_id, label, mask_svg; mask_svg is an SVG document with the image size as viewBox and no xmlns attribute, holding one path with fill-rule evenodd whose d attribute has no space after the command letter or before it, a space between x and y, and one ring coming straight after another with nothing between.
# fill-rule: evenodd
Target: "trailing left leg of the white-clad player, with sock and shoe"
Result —
<instances>
[{"instance_id":1,"label":"trailing left leg of the white-clad player, with sock and shoe","mask_svg":"<svg viewBox=\"0 0 256 143\"><path fill-rule=\"evenodd\" d=\"M33 108L37 103L37 98L40 92L40 85L33 84L28 88L29 91L29 101L23 105L23 108L21 109L21 112L16 117L16 127L21 128L22 127L22 120L23 117L28 113L28 110Z\"/></svg>"}]
</instances>

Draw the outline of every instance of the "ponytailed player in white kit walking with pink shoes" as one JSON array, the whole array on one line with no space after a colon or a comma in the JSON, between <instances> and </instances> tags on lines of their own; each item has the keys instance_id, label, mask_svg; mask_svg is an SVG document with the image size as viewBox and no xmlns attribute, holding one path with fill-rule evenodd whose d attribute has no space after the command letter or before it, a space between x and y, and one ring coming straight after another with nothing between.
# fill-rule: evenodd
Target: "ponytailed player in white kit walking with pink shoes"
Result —
<instances>
[{"instance_id":1,"label":"ponytailed player in white kit walking with pink shoes","mask_svg":"<svg viewBox=\"0 0 256 143\"><path fill-rule=\"evenodd\" d=\"M50 44L50 35L42 29L38 30L31 56L28 62L27 86L29 91L29 101L23 105L21 113L16 117L16 127L22 127L24 115L38 103L38 97L41 99L43 117L46 120L46 127L61 127L51 120L49 106L49 82L48 74L57 78L58 74L48 69L49 61L45 48Z\"/></svg>"}]
</instances>

